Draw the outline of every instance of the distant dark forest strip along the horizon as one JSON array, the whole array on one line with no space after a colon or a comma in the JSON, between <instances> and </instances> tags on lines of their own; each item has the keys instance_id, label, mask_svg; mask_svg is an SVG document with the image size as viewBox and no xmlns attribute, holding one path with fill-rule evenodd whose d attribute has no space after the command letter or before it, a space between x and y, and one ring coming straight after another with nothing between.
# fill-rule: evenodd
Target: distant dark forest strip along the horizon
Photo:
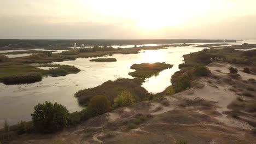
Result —
<instances>
[{"instance_id":1,"label":"distant dark forest strip along the horizon","mask_svg":"<svg viewBox=\"0 0 256 144\"><path fill-rule=\"evenodd\" d=\"M18 48L63 48L77 45L143 45L143 44L176 44L176 43L236 43L236 40L211 39L0 39L0 50Z\"/></svg>"}]
</instances>

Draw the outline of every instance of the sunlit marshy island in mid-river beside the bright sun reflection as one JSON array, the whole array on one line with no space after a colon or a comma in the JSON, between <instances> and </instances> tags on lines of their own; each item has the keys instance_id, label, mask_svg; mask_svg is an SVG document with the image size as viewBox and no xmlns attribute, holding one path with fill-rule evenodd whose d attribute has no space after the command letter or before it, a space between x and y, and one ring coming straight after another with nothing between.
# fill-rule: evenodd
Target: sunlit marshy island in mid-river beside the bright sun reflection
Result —
<instances>
[{"instance_id":1,"label":"sunlit marshy island in mid-river beside the bright sun reflection","mask_svg":"<svg viewBox=\"0 0 256 144\"><path fill-rule=\"evenodd\" d=\"M141 79L149 78L153 75L158 75L158 73L165 69L172 68L173 65L166 63L141 63L141 64L133 64L131 69L135 69L135 71L130 72L129 75L132 77L138 77Z\"/></svg>"}]
</instances>

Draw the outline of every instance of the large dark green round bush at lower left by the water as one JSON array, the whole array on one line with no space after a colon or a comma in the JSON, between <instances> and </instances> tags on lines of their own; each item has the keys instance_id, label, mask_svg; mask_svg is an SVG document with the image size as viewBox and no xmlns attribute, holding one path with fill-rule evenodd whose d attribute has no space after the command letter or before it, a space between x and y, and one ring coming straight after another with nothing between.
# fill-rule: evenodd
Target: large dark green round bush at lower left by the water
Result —
<instances>
[{"instance_id":1,"label":"large dark green round bush at lower left by the water","mask_svg":"<svg viewBox=\"0 0 256 144\"><path fill-rule=\"evenodd\" d=\"M45 101L44 104L34 106L31 114L36 130L42 133L52 133L67 126L68 110L65 106Z\"/></svg>"}]
</instances>

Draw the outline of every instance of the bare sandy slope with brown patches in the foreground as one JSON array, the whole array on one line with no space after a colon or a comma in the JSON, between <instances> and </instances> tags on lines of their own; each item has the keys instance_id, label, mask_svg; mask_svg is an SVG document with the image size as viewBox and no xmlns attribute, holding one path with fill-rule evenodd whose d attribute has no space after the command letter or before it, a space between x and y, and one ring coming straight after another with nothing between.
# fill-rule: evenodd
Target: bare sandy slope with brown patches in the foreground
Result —
<instances>
[{"instance_id":1,"label":"bare sandy slope with brown patches in the foreground","mask_svg":"<svg viewBox=\"0 0 256 144\"><path fill-rule=\"evenodd\" d=\"M12 143L174 143L181 139L196 144L256 143L253 125L226 114L237 98L229 90L234 86L226 82L228 67L227 63L212 63L208 68L213 75L197 80L187 91L122 107L58 134L24 135ZM241 79L232 81L256 79L255 75L239 74ZM128 127L141 116L146 120L134 129ZM251 114L245 117L255 119Z\"/></svg>"}]
</instances>

